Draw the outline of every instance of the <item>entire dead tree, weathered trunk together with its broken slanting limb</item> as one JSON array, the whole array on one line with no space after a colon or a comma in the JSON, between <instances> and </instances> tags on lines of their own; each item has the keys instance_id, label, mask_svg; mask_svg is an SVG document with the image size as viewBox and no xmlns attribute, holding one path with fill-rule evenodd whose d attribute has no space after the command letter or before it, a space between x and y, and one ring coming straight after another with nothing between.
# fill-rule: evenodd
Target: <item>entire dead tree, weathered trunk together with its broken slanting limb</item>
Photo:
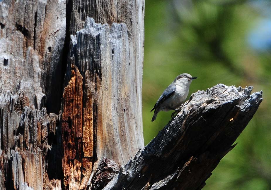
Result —
<instances>
[{"instance_id":1,"label":"entire dead tree, weathered trunk together with its broken slanting limb","mask_svg":"<svg viewBox=\"0 0 271 190\"><path fill-rule=\"evenodd\" d=\"M199 91L141 150L143 19L144 0L1 2L0 189L200 189L261 94Z\"/></svg>"}]
</instances>

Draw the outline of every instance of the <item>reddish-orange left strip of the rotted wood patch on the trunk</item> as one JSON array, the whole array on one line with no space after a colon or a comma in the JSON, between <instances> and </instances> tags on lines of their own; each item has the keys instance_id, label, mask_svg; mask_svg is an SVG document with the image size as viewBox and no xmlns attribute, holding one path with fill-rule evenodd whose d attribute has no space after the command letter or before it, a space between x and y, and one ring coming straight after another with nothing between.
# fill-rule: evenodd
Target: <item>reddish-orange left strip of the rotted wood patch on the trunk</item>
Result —
<instances>
[{"instance_id":1,"label":"reddish-orange left strip of the rotted wood patch on the trunk","mask_svg":"<svg viewBox=\"0 0 271 190\"><path fill-rule=\"evenodd\" d=\"M74 184L73 180L80 182L82 160L82 98L83 77L77 69L72 71L69 84L64 89L62 113L62 141L64 155L62 167L64 184ZM72 176L72 178L69 178ZM79 184L78 184L79 186Z\"/></svg>"}]
</instances>

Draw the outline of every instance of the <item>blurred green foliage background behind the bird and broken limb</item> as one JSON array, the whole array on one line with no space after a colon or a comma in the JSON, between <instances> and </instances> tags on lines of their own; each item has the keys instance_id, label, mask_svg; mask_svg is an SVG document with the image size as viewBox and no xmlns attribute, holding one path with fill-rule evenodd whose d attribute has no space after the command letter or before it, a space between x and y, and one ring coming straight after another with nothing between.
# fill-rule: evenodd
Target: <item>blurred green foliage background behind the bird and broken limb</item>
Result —
<instances>
[{"instance_id":1,"label":"blurred green foliage background behind the bird and broken limb","mask_svg":"<svg viewBox=\"0 0 271 190\"><path fill-rule=\"evenodd\" d=\"M258 4L257 4L258 3ZM191 93L218 83L263 90L263 102L237 146L207 180L204 190L271 189L271 47L257 50L249 34L266 15L257 5L270 1L146 0L143 68L143 126L148 144L171 120L160 112L151 122L151 108L163 90L184 72L198 77ZM271 17L270 17L271 18ZM267 19L270 19L267 18ZM271 22L271 21L270 21ZM271 35L271 34L270 34ZM269 40L271 37L269 36Z\"/></svg>"}]
</instances>

